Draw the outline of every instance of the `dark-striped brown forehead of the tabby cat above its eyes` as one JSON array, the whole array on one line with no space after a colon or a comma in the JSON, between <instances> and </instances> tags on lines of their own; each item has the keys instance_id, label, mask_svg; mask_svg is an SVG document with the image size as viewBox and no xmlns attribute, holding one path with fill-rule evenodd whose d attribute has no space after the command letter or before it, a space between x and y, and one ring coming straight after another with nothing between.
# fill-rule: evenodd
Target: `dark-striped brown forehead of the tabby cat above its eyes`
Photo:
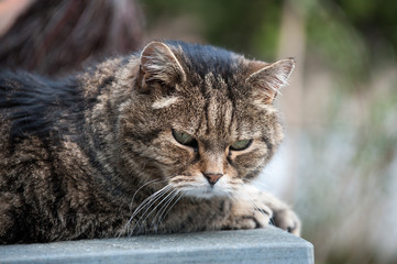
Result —
<instances>
[{"instance_id":1,"label":"dark-striped brown forehead of the tabby cat above its eyes","mask_svg":"<svg viewBox=\"0 0 397 264\"><path fill-rule=\"evenodd\" d=\"M235 87L234 87L235 88ZM221 76L208 74L200 87L191 87L191 94L173 99L178 106L179 118L174 129L186 131L203 141L221 142L252 139L262 135L262 118L258 109L247 98L233 92Z\"/></svg>"}]
</instances>

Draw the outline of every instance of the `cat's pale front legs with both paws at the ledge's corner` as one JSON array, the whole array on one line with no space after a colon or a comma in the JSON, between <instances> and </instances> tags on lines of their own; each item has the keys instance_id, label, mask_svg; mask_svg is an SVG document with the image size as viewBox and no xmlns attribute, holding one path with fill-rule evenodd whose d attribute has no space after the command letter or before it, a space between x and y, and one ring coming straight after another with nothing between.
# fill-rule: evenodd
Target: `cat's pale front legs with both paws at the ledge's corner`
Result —
<instances>
[{"instance_id":1,"label":"cat's pale front legs with both paws at the ledge's corner","mask_svg":"<svg viewBox=\"0 0 397 264\"><path fill-rule=\"evenodd\" d=\"M300 235L300 221L297 215L273 195L246 186L231 205L227 229L264 228L268 222L296 235Z\"/></svg>"}]
</instances>

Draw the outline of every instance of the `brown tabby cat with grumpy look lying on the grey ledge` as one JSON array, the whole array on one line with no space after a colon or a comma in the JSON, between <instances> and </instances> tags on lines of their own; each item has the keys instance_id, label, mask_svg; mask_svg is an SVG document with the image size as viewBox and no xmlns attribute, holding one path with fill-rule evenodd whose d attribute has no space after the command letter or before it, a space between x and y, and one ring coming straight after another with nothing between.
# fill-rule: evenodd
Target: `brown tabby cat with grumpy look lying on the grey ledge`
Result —
<instances>
[{"instance_id":1,"label":"brown tabby cat with grumpy look lying on the grey ledge","mask_svg":"<svg viewBox=\"0 0 397 264\"><path fill-rule=\"evenodd\" d=\"M283 139L294 59L152 42L52 80L0 73L0 243L265 228L297 215L252 180Z\"/></svg>"}]
</instances>

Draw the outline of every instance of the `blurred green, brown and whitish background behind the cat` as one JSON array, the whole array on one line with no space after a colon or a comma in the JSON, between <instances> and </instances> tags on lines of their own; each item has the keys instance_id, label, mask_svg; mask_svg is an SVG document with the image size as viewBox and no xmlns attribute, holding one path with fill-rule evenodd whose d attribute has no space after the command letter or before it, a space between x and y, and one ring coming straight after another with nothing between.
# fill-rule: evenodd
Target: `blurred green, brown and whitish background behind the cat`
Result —
<instances>
[{"instance_id":1,"label":"blurred green, brown and whitish background behind the cat","mask_svg":"<svg viewBox=\"0 0 397 264\"><path fill-rule=\"evenodd\" d=\"M26 25L4 12L10 10L7 2L13 2L15 13L23 13L15 7L34 1L0 1L0 65L15 63L42 74L64 74L37 66L46 65L43 52L33 63L22 62L41 45L36 36L18 38L24 47L15 44L11 36L27 34ZM70 9L68 2L59 1L65 10ZM112 12L101 16L86 11L75 21L107 18L110 22L101 26L111 29L98 32L119 29L117 35L92 41L100 56L126 53L151 40L173 38L218 45L266 62L295 57L290 87L277 101L286 141L258 185L296 209L304 223L302 238L315 245L317 264L397 263L397 1L92 2ZM59 16L59 12L52 14ZM52 23L57 21L64 20ZM13 29L13 23L19 28ZM82 29L97 24L82 23ZM79 42L89 35L78 33ZM117 37L125 42L126 36L134 41L114 44ZM57 43L56 37L43 40L46 47L51 41L54 46L65 43ZM107 40L112 42L100 46ZM77 52L84 44L77 45ZM27 55L16 59L21 48L27 48ZM81 61L92 56L84 54Z\"/></svg>"}]
</instances>

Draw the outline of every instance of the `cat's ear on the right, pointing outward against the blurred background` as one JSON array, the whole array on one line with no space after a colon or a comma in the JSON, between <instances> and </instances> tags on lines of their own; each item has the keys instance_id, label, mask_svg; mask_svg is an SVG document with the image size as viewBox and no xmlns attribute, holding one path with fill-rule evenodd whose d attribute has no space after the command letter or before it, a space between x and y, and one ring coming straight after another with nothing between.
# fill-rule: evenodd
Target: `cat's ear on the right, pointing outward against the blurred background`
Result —
<instances>
[{"instance_id":1,"label":"cat's ear on the right, pointing outward against the blurred background","mask_svg":"<svg viewBox=\"0 0 397 264\"><path fill-rule=\"evenodd\" d=\"M257 64L255 64L257 67ZM288 85L289 76L295 67L295 59L282 59L273 64L267 64L246 79L245 84L251 86L260 97L262 103L272 103L280 88Z\"/></svg>"}]
</instances>

